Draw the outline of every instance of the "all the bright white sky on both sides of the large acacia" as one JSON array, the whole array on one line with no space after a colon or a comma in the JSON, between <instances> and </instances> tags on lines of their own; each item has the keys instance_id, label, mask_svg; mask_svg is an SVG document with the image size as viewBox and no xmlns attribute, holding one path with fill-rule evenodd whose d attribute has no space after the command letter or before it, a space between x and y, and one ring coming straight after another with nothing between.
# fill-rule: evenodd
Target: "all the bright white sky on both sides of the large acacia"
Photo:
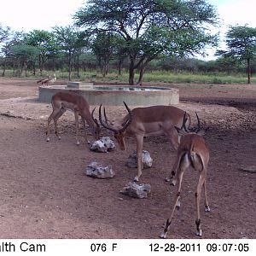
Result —
<instances>
[{"instance_id":1,"label":"all the bright white sky on both sides of the large acacia","mask_svg":"<svg viewBox=\"0 0 256 256\"><path fill-rule=\"evenodd\" d=\"M221 26L216 30L221 38L230 25L256 27L255 0L207 0L216 7ZM73 24L73 15L85 0L0 0L0 24L14 31L30 32L33 29L50 31L53 26ZM221 44L223 45L223 44ZM221 46L222 47L222 46ZM213 58L208 49L207 59Z\"/></svg>"}]
</instances>

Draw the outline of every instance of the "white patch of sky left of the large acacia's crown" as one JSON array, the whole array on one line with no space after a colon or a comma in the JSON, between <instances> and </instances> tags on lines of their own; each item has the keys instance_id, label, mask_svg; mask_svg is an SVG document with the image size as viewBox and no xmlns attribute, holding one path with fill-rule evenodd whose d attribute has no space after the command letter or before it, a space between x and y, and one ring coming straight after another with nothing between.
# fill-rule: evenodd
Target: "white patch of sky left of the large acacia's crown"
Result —
<instances>
[{"instance_id":1,"label":"white patch of sky left of the large acacia's crown","mask_svg":"<svg viewBox=\"0 0 256 256\"><path fill-rule=\"evenodd\" d=\"M85 0L0 0L0 24L15 31L50 31L73 24L72 16Z\"/></svg>"}]
</instances>

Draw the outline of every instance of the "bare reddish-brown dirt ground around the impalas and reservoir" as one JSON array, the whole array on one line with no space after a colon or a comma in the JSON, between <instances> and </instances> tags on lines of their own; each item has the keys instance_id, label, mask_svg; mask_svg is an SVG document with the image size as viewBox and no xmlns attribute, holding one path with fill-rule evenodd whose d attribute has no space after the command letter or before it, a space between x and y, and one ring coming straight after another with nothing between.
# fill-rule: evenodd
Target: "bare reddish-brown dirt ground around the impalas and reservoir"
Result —
<instances>
[{"instance_id":1,"label":"bare reddish-brown dirt ground around the impalas and reservoir","mask_svg":"<svg viewBox=\"0 0 256 256\"><path fill-rule=\"evenodd\" d=\"M154 84L155 85L155 84ZM180 89L178 108L195 111L210 126L211 148L207 185L211 212L203 211L202 238L256 238L256 85L172 84ZM126 152L91 152L75 144L73 114L60 119L61 141L51 126L45 141L51 106L38 102L35 80L0 79L0 238L158 238L169 217L176 188L164 181L175 159L166 137L144 141L154 160L140 183L150 183L147 199L133 199L119 190L137 170L125 166L135 149L127 139ZM91 106L93 107L93 106ZM109 107L110 119L125 114ZM82 136L81 132L81 136ZM112 134L103 131L106 136ZM93 160L112 165L115 177L85 175ZM182 205L175 212L168 238L195 236L195 186L198 174L183 177Z\"/></svg>"}]
</instances>

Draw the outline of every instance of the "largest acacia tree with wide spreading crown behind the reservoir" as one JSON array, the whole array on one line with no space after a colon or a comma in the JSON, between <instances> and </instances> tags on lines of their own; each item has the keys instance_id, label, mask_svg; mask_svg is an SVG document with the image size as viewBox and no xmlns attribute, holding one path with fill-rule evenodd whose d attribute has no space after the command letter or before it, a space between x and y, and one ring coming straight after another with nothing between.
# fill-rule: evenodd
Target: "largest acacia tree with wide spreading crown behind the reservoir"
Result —
<instances>
[{"instance_id":1,"label":"largest acacia tree with wide spreading crown behind the reservoir","mask_svg":"<svg viewBox=\"0 0 256 256\"><path fill-rule=\"evenodd\" d=\"M135 70L143 73L149 61L163 52L171 55L200 52L213 44L209 25L217 24L216 10L205 0L90 0L74 15L86 32L112 32L124 40L130 59L129 84Z\"/></svg>"}]
</instances>

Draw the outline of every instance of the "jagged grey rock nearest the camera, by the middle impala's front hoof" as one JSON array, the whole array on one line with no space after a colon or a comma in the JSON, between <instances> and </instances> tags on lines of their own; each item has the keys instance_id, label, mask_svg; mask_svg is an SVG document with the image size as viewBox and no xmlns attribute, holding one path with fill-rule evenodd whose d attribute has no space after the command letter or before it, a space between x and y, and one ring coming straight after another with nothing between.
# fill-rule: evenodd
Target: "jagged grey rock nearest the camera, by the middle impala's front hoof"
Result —
<instances>
[{"instance_id":1,"label":"jagged grey rock nearest the camera, by the middle impala's front hoof","mask_svg":"<svg viewBox=\"0 0 256 256\"><path fill-rule=\"evenodd\" d=\"M134 198L147 198L150 189L150 184L128 183L125 185L125 188L121 189L119 192Z\"/></svg>"}]
</instances>

